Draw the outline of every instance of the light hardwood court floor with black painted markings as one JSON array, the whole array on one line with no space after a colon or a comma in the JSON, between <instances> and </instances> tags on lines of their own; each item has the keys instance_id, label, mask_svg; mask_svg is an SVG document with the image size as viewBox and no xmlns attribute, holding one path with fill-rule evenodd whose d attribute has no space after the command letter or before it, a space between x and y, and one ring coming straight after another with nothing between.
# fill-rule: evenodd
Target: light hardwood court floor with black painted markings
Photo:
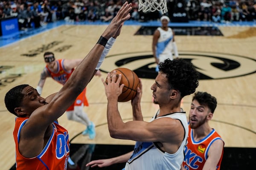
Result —
<instances>
[{"instance_id":1,"label":"light hardwood court floor with black painted markings","mask_svg":"<svg viewBox=\"0 0 256 170\"><path fill-rule=\"evenodd\" d=\"M64 25L36 34L0 48L0 167L7 170L15 163L15 144L12 131L15 116L9 113L4 104L6 92L19 84L37 86L44 67L43 53L53 51L57 59L83 58L97 42L106 25ZM134 35L138 25L125 25L113 48L102 65L102 78L117 67L132 70L154 68L154 59L143 58L152 55L151 35ZM224 36L176 36L180 57L191 59L198 71L211 77L201 79L197 91L207 91L217 98L218 106L210 125L218 131L225 147L256 147L256 28L219 27ZM135 57L132 62L122 62ZM230 62L230 61L233 62ZM116 65L116 61L122 65ZM228 62L227 62L228 61ZM213 64L212 64L213 63ZM213 67L217 63L217 67ZM229 65L235 63L234 65ZM220 68L220 65L227 69ZM253 74L251 74L253 73ZM147 74L147 72L145 72ZM143 75L143 74L142 74ZM154 79L142 78L142 111L145 121L157 111L152 104L150 86ZM47 79L42 96L46 97L61 88L57 82ZM84 111L96 125L96 138L89 140L81 136L84 125L68 121L66 115L59 123L67 128L73 143L93 144L134 144L133 141L112 139L109 136L104 86L100 77L94 77L87 86L89 107ZM188 113L191 96L183 99L182 107ZM119 103L119 111L124 121L132 119L130 102Z\"/></svg>"}]
</instances>

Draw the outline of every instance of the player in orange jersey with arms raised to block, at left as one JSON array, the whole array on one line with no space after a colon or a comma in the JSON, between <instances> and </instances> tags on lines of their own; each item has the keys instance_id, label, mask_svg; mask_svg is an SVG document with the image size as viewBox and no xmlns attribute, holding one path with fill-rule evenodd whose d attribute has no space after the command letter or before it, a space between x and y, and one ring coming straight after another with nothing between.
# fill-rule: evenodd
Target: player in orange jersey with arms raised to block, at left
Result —
<instances>
[{"instance_id":1,"label":"player in orange jersey with arms raised to block, at left","mask_svg":"<svg viewBox=\"0 0 256 170\"><path fill-rule=\"evenodd\" d=\"M69 136L57 119L99 70L105 45L119 34L122 24L130 18L130 11L131 3L125 2L58 93L44 99L30 85L17 85L6 93L6 108L17 116L13 132L17 170L67 170Z\"/></svg>"}]
</instances>

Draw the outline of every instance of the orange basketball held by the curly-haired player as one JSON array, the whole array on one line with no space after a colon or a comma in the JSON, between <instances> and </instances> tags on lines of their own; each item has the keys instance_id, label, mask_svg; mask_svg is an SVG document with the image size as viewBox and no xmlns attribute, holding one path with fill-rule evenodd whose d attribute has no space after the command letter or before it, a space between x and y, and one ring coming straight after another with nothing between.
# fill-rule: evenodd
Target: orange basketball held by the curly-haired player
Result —
<instances>
[{"instance_id":1,"label":"orange basketball held by the curly-haired player","mask_svg":"<svg viewBox=\"0 0 256 170\"><path fill-rule=\"evenodd\" d=\"M137 94L137 88L140 87L140 80L137 74L128 68L116 68L113 71L116 71L116 80L118 79L118 75L122 74L120 85L125 85L122 89L122 94L118 97L118 102L128 102L134 99ZM111 71L110 75L113 74L113 71ZM107 79L106 83L108 84Z\"/></svg>"}]
</instances>

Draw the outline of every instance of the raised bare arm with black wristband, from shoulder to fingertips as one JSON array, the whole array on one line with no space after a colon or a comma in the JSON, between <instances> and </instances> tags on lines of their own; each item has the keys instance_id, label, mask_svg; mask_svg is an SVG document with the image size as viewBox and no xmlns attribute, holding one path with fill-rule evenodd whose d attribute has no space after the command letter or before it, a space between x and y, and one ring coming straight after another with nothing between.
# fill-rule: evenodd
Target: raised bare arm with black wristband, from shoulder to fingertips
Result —
<instances>
[{"instance_id":1,"label":"raised bare arm with black wristband, from shoulder to fingertips","mask_svg":"<svg viewBox=\"0 0 256 170\"><path fill-rule=\"evenodd\" d=\"M130 18L130 10L131 3L124 3L116 14L116 17L113 18L109 26L103 32L99 41L81 61L73 74L61 90L52 98L49 104L45 103L40 96L38 97L38 95L32 96L32 102L35 103L37 102L36 100L40 99L42 106L31 113L31 116L20 132L22 138L20 139L20 142L25 141L23 142L23 145L26 143L26 146L29 146L26 147L26 154L23 156L31 158L41 153L44 147L44 136L47 128L49 128L49 125L67 110L90 82L91 77L93 77L96 72L95 68L99 62L105 44L110 37L116 34L116 31L120 28L122 23ZM38 104L38 102L36 104ZM27 111L30 110L27 109Z\"/></svg>"}]
</instances>

